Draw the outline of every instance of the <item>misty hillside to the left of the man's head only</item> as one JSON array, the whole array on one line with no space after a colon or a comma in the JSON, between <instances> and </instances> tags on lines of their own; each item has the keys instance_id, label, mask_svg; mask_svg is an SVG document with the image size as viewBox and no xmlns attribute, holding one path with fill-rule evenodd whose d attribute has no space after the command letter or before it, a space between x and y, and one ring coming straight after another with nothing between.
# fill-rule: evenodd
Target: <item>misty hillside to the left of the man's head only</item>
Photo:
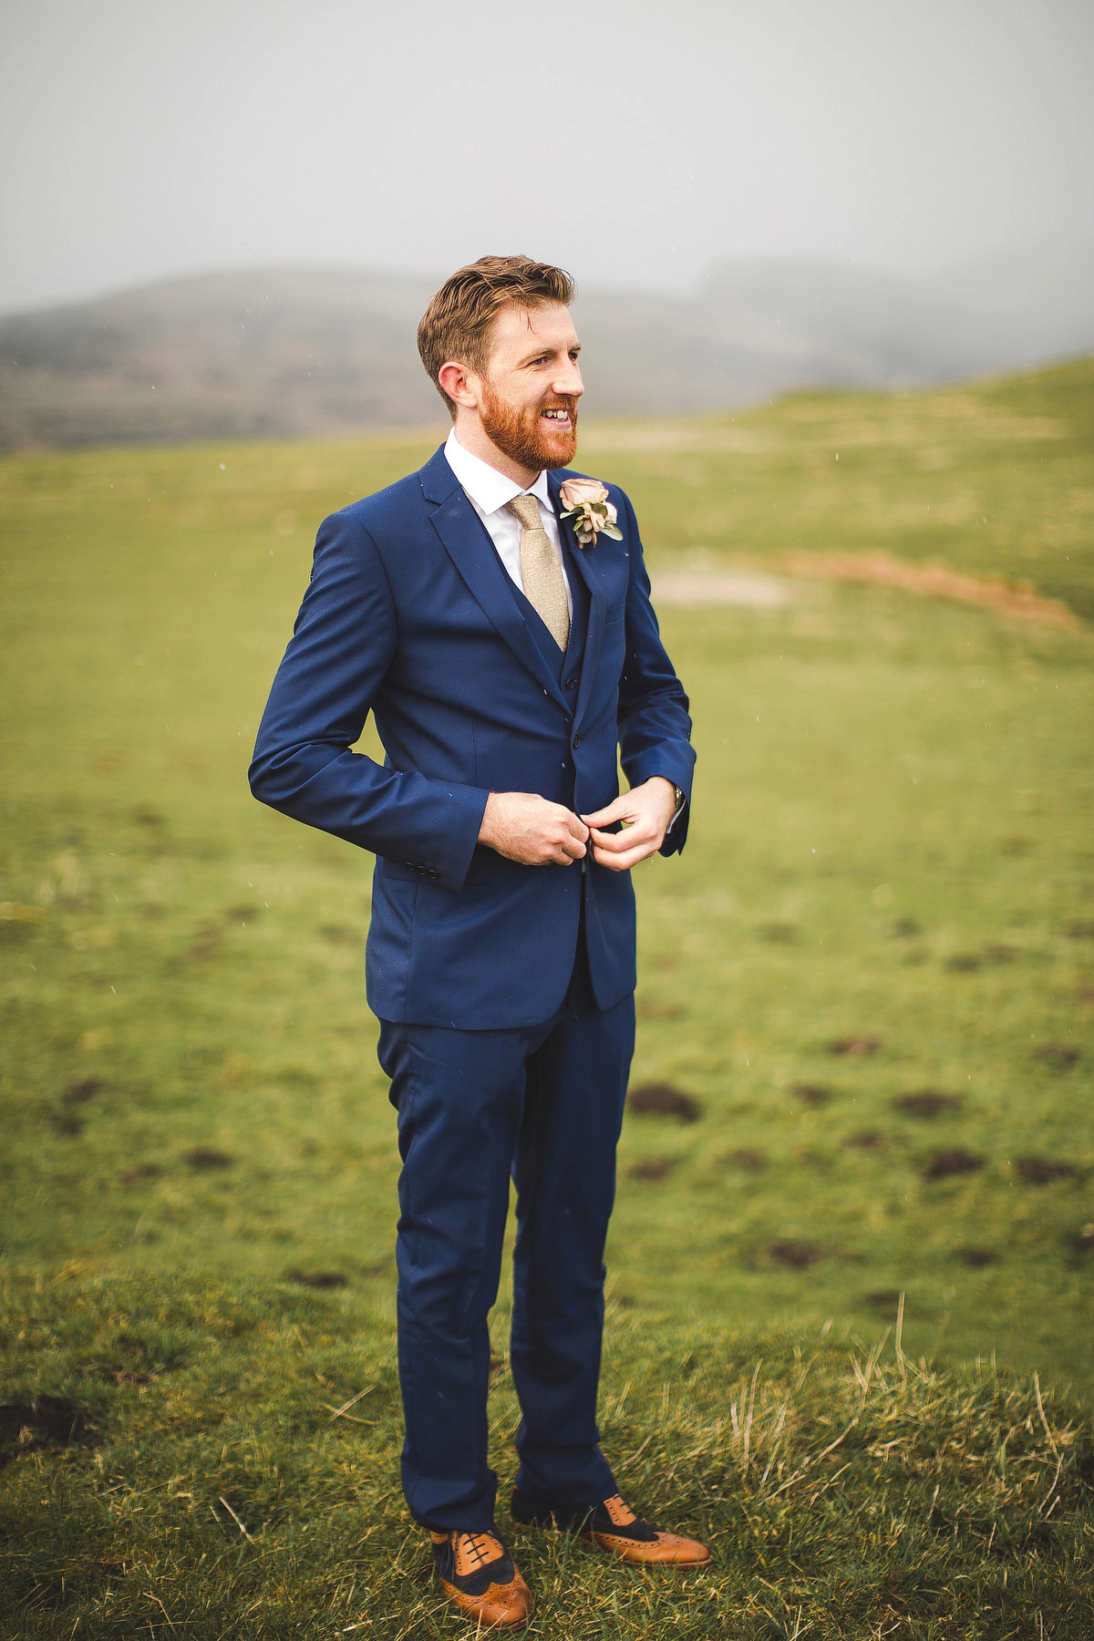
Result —
<instances>
[{"instance_id":1,"label":"misty hillside to the left of the man's head only","mask_svg":"<svg viewBox=\"0 0 1094 1641\"><path fill-rule=\"evenodd\" d=\"M0 320L0 445L335 433L443 415L428 282L207 274Z\"/></svg>"}]
</instances>

